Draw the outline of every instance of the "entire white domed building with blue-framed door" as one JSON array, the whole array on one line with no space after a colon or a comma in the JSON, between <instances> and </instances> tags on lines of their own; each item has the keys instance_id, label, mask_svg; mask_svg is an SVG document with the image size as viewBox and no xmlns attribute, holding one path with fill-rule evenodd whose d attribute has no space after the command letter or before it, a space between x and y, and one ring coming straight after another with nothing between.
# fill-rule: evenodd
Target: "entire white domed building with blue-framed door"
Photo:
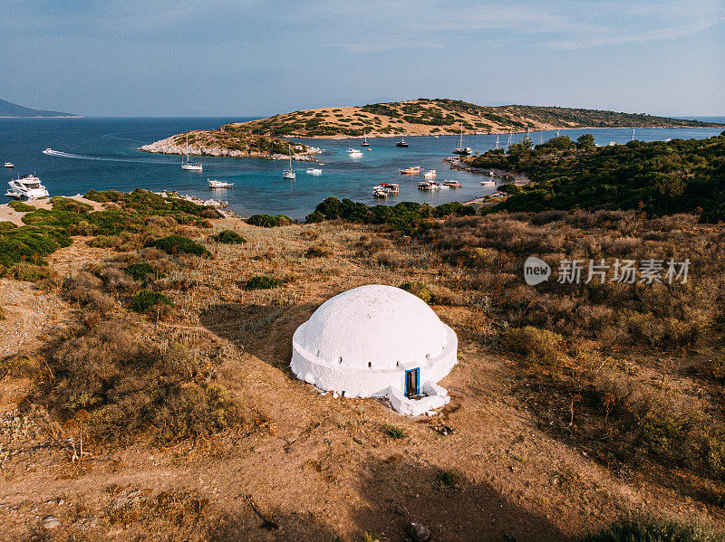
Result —
<instances>
[{"instance_id":1,"label":"entire white domed building with blue-framed door","mask_svg":"<svg viewBox=\"0 0 725 542\"><path fill-rule=\"evenodd\" d=\"M295 331L292 371L345 397L386 397L401 414L449 402L438 381L456 364L453 329L411 293L381 284L325 301Z\"/></svg>"}]
</instances>

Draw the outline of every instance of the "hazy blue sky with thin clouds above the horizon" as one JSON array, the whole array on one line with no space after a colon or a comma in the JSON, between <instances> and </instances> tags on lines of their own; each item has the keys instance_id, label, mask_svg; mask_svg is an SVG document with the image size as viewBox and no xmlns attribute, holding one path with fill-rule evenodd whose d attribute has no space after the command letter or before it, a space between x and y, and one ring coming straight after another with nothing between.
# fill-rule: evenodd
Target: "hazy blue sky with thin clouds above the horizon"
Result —
<instances>
[{"instance_id":1,"label":"hazy blue sky with thin clouds above the horizon","mask_svg":"<svg viewBox=\"0 0 725 542\"><path fill-rule=\"evenodd\" d=\"M725 0L0 0L0 98L87 117L415 98L725 115Z\"/></svg>"}]
</instances>

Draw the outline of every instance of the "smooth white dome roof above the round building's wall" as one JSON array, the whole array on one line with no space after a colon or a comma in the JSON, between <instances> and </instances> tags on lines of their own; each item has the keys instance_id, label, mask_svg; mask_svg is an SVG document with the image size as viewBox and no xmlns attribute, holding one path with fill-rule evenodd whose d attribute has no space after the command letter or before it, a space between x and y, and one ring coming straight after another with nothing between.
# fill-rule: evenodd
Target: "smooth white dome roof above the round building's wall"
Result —
<instances>
[{"instance_id":1,"label":"smooth white dome roof above the round building's wall","mask_svg":"<svg viewBox=\"0 0 725 542\"><path fill-rule=\"evenodd\" d=\"M424 301L400 288L373 284L325 301L297 329L294 342L341 369L386 370L439 356L449 333Z\"/></svg>"}]
</instances>

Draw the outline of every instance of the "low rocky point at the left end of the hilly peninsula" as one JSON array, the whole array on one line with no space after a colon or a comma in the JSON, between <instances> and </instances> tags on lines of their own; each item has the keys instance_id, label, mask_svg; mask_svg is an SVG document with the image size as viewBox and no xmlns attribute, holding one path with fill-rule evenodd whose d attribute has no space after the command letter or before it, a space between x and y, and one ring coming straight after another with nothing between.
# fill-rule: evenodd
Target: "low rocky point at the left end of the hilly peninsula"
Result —
<instances>
[{"instance_id":1,"label":"low rocky point at the left end of the hilly peninsula","mask_svg":"<svg viewBox=\"0 0 725 542\"><path fill-rule=\"evenodd\" d=\"M139 147L138 150L167 155L181 155L187 152L188 136L189 155L194 156L286 160L289 158L289 150L291 149L294 160L315 161L314 155L322 152L322 149L300 143L294 143L290 147L290 144L284 139L240 134L224 128L193 130L177 134Z\"/></svg>"}]
</instances>

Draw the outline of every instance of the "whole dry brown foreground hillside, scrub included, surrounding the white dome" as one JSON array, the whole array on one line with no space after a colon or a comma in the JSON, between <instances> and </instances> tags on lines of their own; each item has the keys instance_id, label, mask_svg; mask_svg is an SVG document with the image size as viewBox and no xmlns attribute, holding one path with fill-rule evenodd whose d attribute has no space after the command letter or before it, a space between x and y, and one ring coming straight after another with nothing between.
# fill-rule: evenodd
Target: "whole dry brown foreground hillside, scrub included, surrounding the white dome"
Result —
<instances>
[{"instance_id":1,"label":"whole dry brown foreground hillside, scrub included, surrounding the white dome","mask_svg":"<svg viewBox=\"0 0 725 542\"><path fill-rule=\"evenodd\" d=\"M76 235L45 278L0 279L0 539L402 541L419 521L440 541L559 541L623 513L722 528L723 233L577 211L412 237L171 216ZM169 234L208 254L147 246ZM531 253L689 254L691 283L529 287ZM295 379L317 306L404 282L459 336L439 416Z\"/></svg>"}]
</instances>

